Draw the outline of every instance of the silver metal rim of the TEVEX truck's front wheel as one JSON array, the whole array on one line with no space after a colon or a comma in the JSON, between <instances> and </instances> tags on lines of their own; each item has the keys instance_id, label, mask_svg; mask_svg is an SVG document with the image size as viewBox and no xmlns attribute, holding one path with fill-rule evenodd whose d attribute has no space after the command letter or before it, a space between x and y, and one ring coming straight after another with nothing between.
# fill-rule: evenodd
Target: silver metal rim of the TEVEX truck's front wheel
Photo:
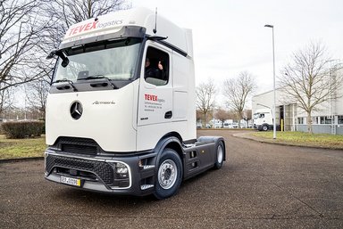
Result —
<instances>
[{"instance_id":1,"label":"silver metal rim of the TEVEX truck's front wheel","mask_svg":"<svg viewBox=\"0 0 343 229\"><path fill-rule=\"evenodd\" d=\"M158 168L158 183L163 189L170 189L175 184L178 176L176 164L171 159L166 159Z\"/></svg>"}]
</instances>

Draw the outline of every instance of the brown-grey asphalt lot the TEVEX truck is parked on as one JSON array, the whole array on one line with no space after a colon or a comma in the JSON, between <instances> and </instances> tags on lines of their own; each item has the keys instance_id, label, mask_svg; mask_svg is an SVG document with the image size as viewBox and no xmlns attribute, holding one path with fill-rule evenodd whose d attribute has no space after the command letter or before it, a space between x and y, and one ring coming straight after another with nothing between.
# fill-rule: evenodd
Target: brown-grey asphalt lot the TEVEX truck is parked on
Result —
<instances>
[{"instance_id":1,"label":"brown-grey asphalt lot the TEVEX truck is parked on","mask_svg":"<svg viewBox=\"0 0 343 229\"><path fill-rule=\"evenodd\" d=\"M43 159L0 163L1 228L343 228L343 151L222 135L227 161L167 200L84 192L44 179Z\"/></svg>"}]
</instances>

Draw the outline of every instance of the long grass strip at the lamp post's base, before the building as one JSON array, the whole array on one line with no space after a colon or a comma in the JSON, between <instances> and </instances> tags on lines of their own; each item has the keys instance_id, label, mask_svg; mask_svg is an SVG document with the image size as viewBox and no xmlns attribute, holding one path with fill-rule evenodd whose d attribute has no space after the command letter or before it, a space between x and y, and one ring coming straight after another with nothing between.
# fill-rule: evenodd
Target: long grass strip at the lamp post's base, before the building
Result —
<instances>
[{"instance_id":1,"label":"long grass strip at the lamp post's base, before the building","mask_svg":"<svg viewBox=\"0 0 343 229\"><path fill-rule=\"evenodd\" d=\"M255 132L251 135L266 142L288 143L330 149L343 149L343 135L313 134L304 132L277 132L276 140L272 139L272 131Z\"/></svg>"}]
</instances>

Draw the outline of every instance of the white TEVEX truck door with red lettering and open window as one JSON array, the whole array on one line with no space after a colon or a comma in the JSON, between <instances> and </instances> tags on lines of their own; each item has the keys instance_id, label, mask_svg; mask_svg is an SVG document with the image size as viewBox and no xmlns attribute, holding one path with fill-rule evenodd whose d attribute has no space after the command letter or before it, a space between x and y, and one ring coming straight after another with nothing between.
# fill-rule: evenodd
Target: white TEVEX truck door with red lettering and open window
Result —
<instances>
[{"instance_id":1,"label":"white TEVEX truck door with red lettering and open window","mask_svg":"<svg viewBox=\"0 0 343 229\"><path fill-rule=\"evenodd\" d=\"M173 119L169 53L162 45L146 42L139 87L138 127L164 124Z\"/></svg>"}]
</instances>

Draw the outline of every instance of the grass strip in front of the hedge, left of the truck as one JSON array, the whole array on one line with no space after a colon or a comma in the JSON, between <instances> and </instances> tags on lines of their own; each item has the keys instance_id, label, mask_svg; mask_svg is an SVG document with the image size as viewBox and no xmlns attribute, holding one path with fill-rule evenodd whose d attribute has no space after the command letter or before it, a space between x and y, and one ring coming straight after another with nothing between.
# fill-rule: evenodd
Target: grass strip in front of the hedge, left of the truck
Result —
<instances>
[{"instance_id":1,"label":"grass strip in front of the hedge, left of the truck","mask_svg":"<svg viewBox=\"0 0 343 229\"><path fill-rule=\"evenodd\" d=\"M0 135L0 159L19 159L43 157L46 150L46 137L6 139Z\"/></svg>"}]
</instances>

